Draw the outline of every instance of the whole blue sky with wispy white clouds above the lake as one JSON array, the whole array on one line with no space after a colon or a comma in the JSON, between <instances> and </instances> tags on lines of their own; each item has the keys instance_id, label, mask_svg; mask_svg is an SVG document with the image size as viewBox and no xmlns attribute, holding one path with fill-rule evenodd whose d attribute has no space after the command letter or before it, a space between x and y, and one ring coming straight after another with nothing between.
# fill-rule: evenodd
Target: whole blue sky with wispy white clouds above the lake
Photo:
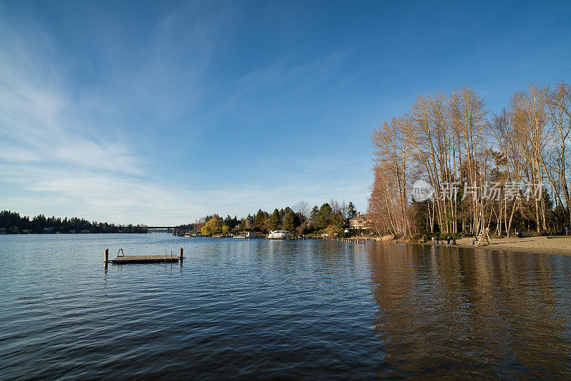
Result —
<instances>
[{"instance_id":1,"label":"whole blue sky with wispy white clouds above the lake","mask_svg":"<svg viewBox=\"0 0 571 381\"><path fill-rule=\"evenodd\" d=\"M571 4L0 1L0 208L114 223L365 211L418 93L569 81Z\"/></svg>"}]
</instances>

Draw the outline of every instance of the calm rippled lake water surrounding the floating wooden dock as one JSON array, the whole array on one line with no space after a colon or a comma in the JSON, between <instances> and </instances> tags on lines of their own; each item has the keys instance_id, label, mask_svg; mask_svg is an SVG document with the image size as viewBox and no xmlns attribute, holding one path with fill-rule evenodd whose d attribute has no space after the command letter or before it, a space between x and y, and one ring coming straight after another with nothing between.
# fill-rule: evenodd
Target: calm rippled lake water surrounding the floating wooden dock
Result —
<instances>
[{"instance_id":1,"label":"calm rippled lake water surrounding the floating wooden dock","mask_svg":"<svg viewBox=\"0 0 571 381\"><path fill-rule=\"evenodd\" d=\"M183 267L109 265L178 253ZM571 258L0 235L1 379L569 378Z\"/></svg>"}]
</instances>

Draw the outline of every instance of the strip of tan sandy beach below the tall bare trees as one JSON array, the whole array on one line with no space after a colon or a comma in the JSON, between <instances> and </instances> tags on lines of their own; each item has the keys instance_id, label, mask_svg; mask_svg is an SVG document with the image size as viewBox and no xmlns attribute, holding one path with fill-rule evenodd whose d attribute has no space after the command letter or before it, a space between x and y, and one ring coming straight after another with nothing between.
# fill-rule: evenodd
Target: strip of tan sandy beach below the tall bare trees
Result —
<instances>
[{"instance_id":1,"label":"strip of tan sandy beach below the tall bare trees","mask_svg":"<svg viewBox=\"0 0 571 381\"><path fill-rule=\"evenodd\" d=\"M525 237L525 238L491 238L490 245L475 246L472 245L474 238L460 238L457 241L458 245L447 246L438 245L442 247L455 247L455 248L470 248L470 249L484 249L484 250L498 250L498 251L512 251L519 253L533 253L533 254L559 254L571 255L571 235L569 237L550 238L547 236ZM378 242L383 242L378 240ZM387 242L387 241L385 241ZM433 246L433 243L420 243L420 242L403 242L399 240L391 240L390 243L412 243L415 245Z\"/></svg>"}]
</instances>

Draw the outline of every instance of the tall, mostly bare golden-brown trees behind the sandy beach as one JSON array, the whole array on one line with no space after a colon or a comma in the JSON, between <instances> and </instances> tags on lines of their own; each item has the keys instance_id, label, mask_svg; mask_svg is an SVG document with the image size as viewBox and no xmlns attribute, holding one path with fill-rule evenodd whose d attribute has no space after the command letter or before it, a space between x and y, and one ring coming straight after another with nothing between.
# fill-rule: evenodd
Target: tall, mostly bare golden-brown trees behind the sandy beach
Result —
<instances>
[{"instance_id":1,"label":"tall, mostly bare golden-brown trees behind the sandy beach","mask_svg":"<svg viewBox=\"0 0 571 381\"><path fill-rule=\"evenodd\" d=\"M570 138L571 86L563 81L515 91L498 113L469 86L419 95L371 136L375 230L413 239L483 229L565 234Z\"/></svg>"}]
</instances>

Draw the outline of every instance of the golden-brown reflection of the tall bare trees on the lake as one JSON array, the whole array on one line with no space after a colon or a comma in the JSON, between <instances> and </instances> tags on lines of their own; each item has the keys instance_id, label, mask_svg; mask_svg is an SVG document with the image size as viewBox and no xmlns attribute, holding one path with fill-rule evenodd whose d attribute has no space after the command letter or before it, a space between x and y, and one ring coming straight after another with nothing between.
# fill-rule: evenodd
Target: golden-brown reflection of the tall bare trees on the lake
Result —
<instances>
[{"instance_id":1,"label":"golden-brown reflection of the tall bare trees on the lake","mask_svg":"<svg viewBox=\"0 0 571 381\"><path fill-rule=\"evenodd\" d=\"M381 376L569 377L570 258L370 250Z\"/></svg>"}]
</instances>

